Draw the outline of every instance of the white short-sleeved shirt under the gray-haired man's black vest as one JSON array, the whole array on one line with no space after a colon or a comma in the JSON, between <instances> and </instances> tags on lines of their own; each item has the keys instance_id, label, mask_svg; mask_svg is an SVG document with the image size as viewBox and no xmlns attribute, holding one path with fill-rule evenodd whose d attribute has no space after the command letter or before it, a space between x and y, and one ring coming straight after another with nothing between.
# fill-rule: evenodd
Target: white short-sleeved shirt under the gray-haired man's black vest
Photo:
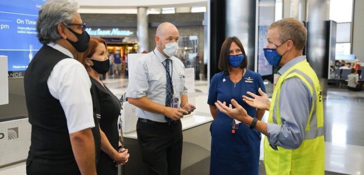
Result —
<instances>
[{"instance_id":1,"label":"white short-sleeved shirt under the gray-haired man's black vest","mask_svg":"<svg viewBox=\"0 0 364 175\"><path fill-rule=\"evenodd\" d=\"M58 44L48 46L72 58L59 61L47 80L50 94L60 101L65 111L69 133L95 127L91 81L85 67L66 48Z\"/></svg>"}]
</instances>

